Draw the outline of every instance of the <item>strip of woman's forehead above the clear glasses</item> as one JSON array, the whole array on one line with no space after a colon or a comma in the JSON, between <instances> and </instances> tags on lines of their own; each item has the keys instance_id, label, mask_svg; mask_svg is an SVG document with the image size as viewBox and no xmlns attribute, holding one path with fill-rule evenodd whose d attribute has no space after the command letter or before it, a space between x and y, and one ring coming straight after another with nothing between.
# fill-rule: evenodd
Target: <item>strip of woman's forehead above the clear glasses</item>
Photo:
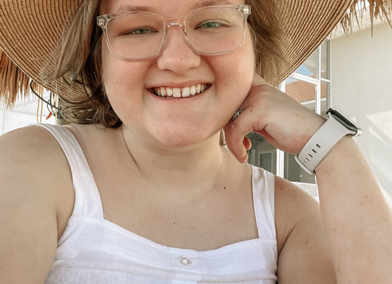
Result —
<instances>
[{"instance_id":1,"label":"strip of woman's forehead above the clear glasses","mask_svg":"<svg viewBox=\"0 0 392 284\"><path fill-rule=\"evenodd\" d=\"M199 7L228 4L245 4L245 0L101 0L99 14L142 10L174 17Z\"/></svg>"}]
</instances>

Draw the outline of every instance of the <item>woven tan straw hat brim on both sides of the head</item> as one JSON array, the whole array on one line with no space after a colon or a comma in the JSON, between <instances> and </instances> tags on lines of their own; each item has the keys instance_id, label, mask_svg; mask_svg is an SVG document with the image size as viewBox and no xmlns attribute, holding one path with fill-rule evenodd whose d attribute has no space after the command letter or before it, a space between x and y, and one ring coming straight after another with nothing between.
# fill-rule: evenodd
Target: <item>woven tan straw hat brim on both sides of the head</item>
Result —
<instances>
[{"instance_id":1,"label":"woven tan straw hat brim on both sides of the head","mask_svg":"<svg viewBox=\"0 0 392 284\"><path fill-rule=\"evenodd\" d=\"M49 69L54 70L49 55L82 1L1 0L0 48L28 77L42 84L42 67L49 64ZM269 78L269 83L276 86L295 71L330 34L351 3L352 0L281 0L286 33L281 49L285 60L278 62L280 76ZM59 91L56 87L61 91L69 88L61 81L44 87L53 93Z\"/></svg>"}]
</instances>

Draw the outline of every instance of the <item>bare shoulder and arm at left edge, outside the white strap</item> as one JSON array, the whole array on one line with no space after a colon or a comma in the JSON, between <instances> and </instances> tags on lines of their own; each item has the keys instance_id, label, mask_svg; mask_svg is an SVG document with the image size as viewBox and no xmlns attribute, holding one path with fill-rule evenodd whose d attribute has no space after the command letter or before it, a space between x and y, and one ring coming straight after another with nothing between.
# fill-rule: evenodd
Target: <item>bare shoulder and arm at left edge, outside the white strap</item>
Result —
<instances>
[{"instance_id":1,"label":"bare shoulder and arm at left edge, outside the white strap","mask_svg":"<svg viewBox=\"0 0 392 284\"><path fill-rule=\"evenodd\" d=\"M61 213L73 206L68 162L40 126L0 136L0 149L0 255L6 256L0 282L43 283L56 252L58 221L66 219Z\"/></svg>"}]
</instances>

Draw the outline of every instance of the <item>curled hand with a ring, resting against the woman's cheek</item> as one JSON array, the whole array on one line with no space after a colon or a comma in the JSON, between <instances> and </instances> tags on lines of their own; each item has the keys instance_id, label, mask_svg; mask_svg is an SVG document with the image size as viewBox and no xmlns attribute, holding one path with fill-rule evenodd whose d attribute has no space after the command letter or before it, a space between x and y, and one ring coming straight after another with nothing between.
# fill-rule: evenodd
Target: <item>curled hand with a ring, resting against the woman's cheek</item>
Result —
<instances>
[{"instance_id":1,"label":"curled hand with a ring, resting against the woman's cheek","mask_svg":"<svg viewBox=\"0 0 392 284\"><path fill-rule=\"evenodd\" d=\"M254 74L252 86L239 107L244 112L223 128L227 147L241 163L247 161L251 143L245 135L252 130L276 148L298 154L325 122L314 111Z\"/></svg>"}]
</instances>

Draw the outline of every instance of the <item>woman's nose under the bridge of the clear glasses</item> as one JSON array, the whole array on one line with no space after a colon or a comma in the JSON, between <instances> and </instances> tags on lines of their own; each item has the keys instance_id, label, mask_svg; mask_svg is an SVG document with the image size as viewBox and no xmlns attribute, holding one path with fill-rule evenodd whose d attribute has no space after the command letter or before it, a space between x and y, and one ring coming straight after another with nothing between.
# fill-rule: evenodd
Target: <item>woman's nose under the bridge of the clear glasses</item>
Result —
<instances>
[{"instance_id":1,"label":"woman's nose under the bridge of the clear glasses","mask_svg":"<svg viewBox=\"0 0 392 284\"><path fill-rule=\"evenodd\" d=\"M200 55L188 45L181 26L173 25L167 31L164 49L157 60L158 68L182 73L198 67L200 61Z\"/></svg>"}]
</instances>

